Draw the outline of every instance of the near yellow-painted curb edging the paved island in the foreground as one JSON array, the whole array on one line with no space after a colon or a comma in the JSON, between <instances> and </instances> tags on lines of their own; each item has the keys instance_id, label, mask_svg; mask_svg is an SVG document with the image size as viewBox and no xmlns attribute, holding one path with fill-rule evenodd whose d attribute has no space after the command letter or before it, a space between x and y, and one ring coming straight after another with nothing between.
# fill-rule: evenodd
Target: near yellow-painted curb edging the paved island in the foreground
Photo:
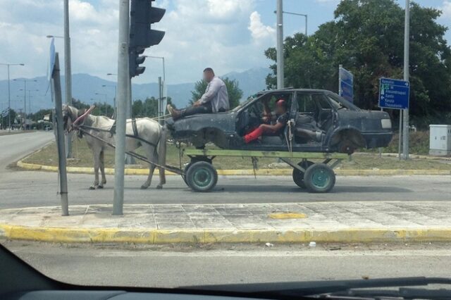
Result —
<instances>
[{"instance_id":1,"label":"near yellow-painted curb edging the paved island in the foreground","mask_svg":"<svg viewBox=\"0 0 451 300\"><path fill-rule=\"evenodd\" d=\"M156 230L55 228L0 224L0 237L61 243L450 242L451 228L347 228L338 230Z\"/></svg>"}]
</instances>

